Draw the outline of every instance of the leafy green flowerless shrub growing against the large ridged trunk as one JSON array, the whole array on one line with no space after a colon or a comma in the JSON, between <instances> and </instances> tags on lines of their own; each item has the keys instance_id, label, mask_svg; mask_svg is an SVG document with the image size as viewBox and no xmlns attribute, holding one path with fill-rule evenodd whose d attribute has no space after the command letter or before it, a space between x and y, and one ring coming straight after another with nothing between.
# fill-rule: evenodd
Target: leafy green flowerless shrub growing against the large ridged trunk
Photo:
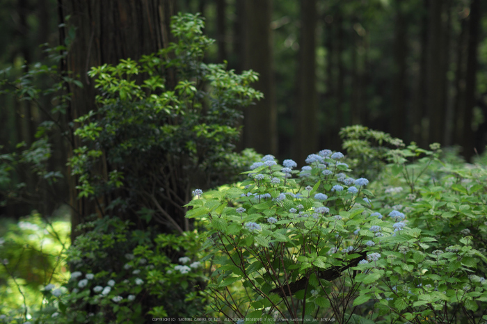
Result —
<instances>
[{"instance_id":1,"label":"leafy green flowerless shrub growing against the large ridged trunk","mask_svg":"<svg viewBox=\"0 0 487 324\"><path fill-rule=\"evenodd\" d=\"M224 64L202 62L214 40L202 33L198 15L173 17L176 41L155 54L118 65L93 67L97 111L78 118L86 145L70 159L79 195L126 192L116 211L154 211L155 223L189 230L182 205L191 187L223 184L235 175L234 143L240 108L262 98L250 88L252 71L235 74ZM106 159L106 175L97 162ZM119 191L120 193L120 191ZM113 207L113 206L111 206Z\"/></svg>"}]
</instances>

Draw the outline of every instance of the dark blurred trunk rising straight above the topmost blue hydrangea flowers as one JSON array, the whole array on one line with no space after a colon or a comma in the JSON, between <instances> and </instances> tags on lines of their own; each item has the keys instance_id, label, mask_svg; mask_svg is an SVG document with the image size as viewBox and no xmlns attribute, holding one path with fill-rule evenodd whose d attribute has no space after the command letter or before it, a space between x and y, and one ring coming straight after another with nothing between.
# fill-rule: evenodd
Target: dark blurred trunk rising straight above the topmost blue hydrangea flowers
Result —
<instances>
[{"instance_id":1,"label":"dark blurred trunk rising straight above the topmost blue hydrangea flowers","mask_svg":"<svg viewBox=\"0 0 487 324\"><path fill-rule=\"evenodd\" d=\"M299 42L298 104L296 105L295 159L303 163L318 150L318 107L316 90L317 1L301 2Z\"/></svg>"}]
</instances>

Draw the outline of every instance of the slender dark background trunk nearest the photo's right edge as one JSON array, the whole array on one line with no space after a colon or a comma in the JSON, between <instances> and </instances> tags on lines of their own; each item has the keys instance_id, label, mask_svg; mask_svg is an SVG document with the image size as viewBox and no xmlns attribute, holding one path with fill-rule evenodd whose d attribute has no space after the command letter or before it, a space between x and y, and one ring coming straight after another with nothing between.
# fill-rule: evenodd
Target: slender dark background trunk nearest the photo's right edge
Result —
<instances>
[{"instance_id":1,"label":"slender dark background trunk nearest the photo's right edge","mask_svg":"<svg viewBox=\"0 0 487 324\"><path fill-rule=\"evenodd\" d=\"M467 72L465 74L465 110L463 111L463 155L470 161L474 155L472 114L477 102L477 47L480 34L480 0L470 5L470 28L468 31Z\"/></svg>"}]
</instances>

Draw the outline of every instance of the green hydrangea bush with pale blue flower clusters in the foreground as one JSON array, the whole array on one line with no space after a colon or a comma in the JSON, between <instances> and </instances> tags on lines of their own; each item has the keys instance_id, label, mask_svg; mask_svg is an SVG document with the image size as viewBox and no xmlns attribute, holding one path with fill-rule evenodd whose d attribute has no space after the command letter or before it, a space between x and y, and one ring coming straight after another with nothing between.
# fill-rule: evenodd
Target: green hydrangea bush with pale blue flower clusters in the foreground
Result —
<instances>
[{"instance_id":1,"label":"green hydrangea bush with pale blue flower clusters in the foreground","mask_svg":"<svg viewBox=\"0 0 487 324\"><path fill-rule=\"evenodd\" d=\"M389 180L369 185L380 193L374 196L365 189L368 181L346 176L351 170L337 160L342 154L328 150L310 155L301 171L291 170L293 161L278 165L264 156L246 172L248 180L198 195L188 217L206 223L207 259L220 265L209 285L213 307L246 323L486 320L487 259L470 235L474 225L484 230L486 188L478 176L479 186L420 188L424 178L431 180L429 172L439 173L429 169L438 163L439 147L432 148L412 144L385 152L392 164L384 172L403 176L394 181L410 189L408 199ZM441 172L449 178L449 171ZM417 193L422 199L411 200ZM441 197L449 202L433 202ZM452 236L458 223L472 230Z\"/></svg>"}]
</instances>

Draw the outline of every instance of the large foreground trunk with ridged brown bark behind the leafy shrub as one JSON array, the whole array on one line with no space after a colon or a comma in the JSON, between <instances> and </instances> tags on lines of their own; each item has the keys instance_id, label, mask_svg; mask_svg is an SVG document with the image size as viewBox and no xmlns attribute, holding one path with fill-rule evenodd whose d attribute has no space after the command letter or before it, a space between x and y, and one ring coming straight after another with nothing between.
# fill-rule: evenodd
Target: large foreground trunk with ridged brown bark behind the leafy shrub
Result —
<instances>
[{"instance_id":1,"label":"large foreground trunk with ridged brown bark behind the leafy shrub","mask_svg":"<svg viewBox=\"0 0 487 324\"><path fill-rule=\"evenodd\" d=\"M70 122L91 110L96 110L93 81L88 78L90 67L105 63L116 64L122 58L138 60L143 54L151 54L169 42L170 17L175 13L173 0L58 0L60 22L70 15L66 30L60 29L64 44L67 30L76 28L76 36L70 43L65 69L81 76L83 88L72 87L72 100L67 111ZM72 137L76 149L79 138ZM72 152L71 152L72 154ZM109 165L99 163L98 172L106 175ZM104 214L107 197L99 200L77 199L78 180L70 181L72 214L72 240L77 236L77 225L90 214Z\"/></svg>"}]
</instances>

